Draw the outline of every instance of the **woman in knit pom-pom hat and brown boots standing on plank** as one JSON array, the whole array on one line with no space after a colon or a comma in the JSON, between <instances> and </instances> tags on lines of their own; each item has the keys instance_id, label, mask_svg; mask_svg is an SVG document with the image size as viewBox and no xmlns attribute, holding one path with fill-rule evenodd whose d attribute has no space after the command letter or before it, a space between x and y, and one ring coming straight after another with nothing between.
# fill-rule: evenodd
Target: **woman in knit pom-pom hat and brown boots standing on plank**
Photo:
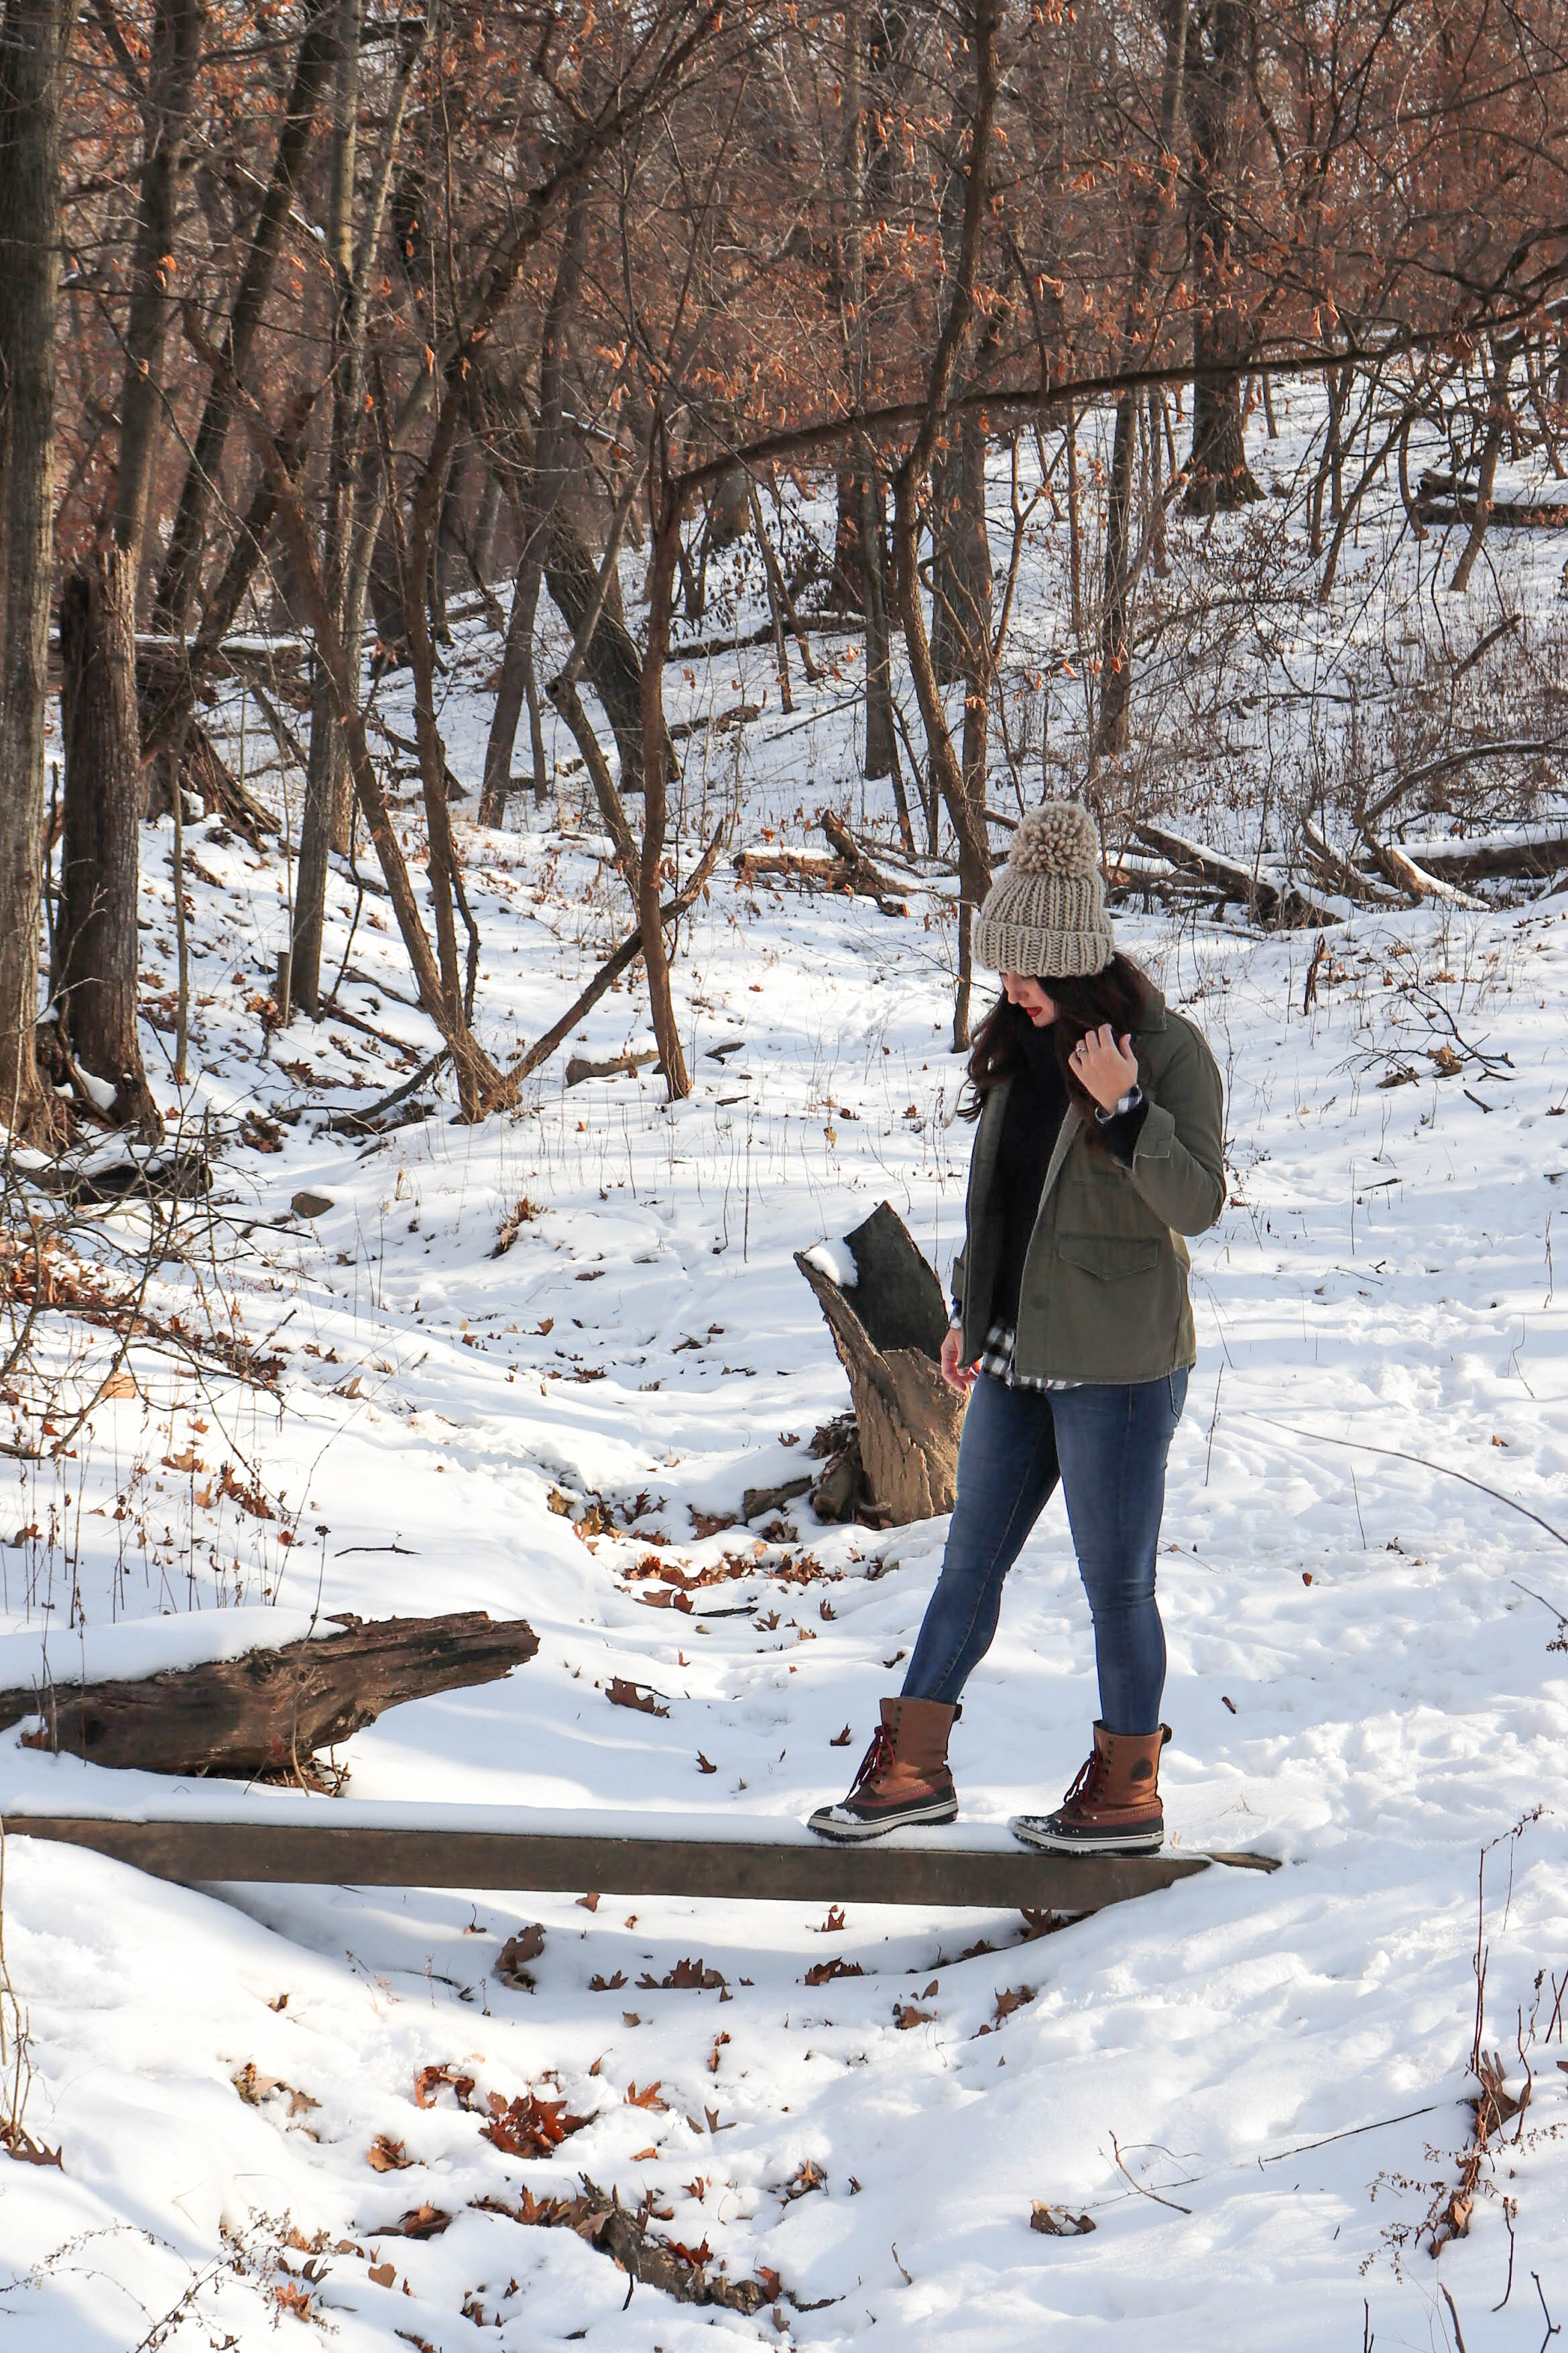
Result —
<instances>
[{"instance_id":1,"label":"woman in knit pom-pom hat and brown boots standing on plank","mask_svg":"<svg viewBox=\"0 0 1568 2353\"><path fill-rule=\"evenodd\" d=\"M943 1574L903 1697L823 1838L952 1821L947 1734L1001 1586L1063 1482L1095 1628L1100 1718L1053 1814L1013 1833L1065 1854L1164 1840L1166 1638L1154 1555L1166 1452L1194 1360L1185 1233L1225 1202L1220 1073L1199 1031L1117 953L1093 819L1032 809L987 892L976 962L1004 995L969 1059L978 1120L943 1377L969 1391Z\"/></svg>"}]
</instances>

